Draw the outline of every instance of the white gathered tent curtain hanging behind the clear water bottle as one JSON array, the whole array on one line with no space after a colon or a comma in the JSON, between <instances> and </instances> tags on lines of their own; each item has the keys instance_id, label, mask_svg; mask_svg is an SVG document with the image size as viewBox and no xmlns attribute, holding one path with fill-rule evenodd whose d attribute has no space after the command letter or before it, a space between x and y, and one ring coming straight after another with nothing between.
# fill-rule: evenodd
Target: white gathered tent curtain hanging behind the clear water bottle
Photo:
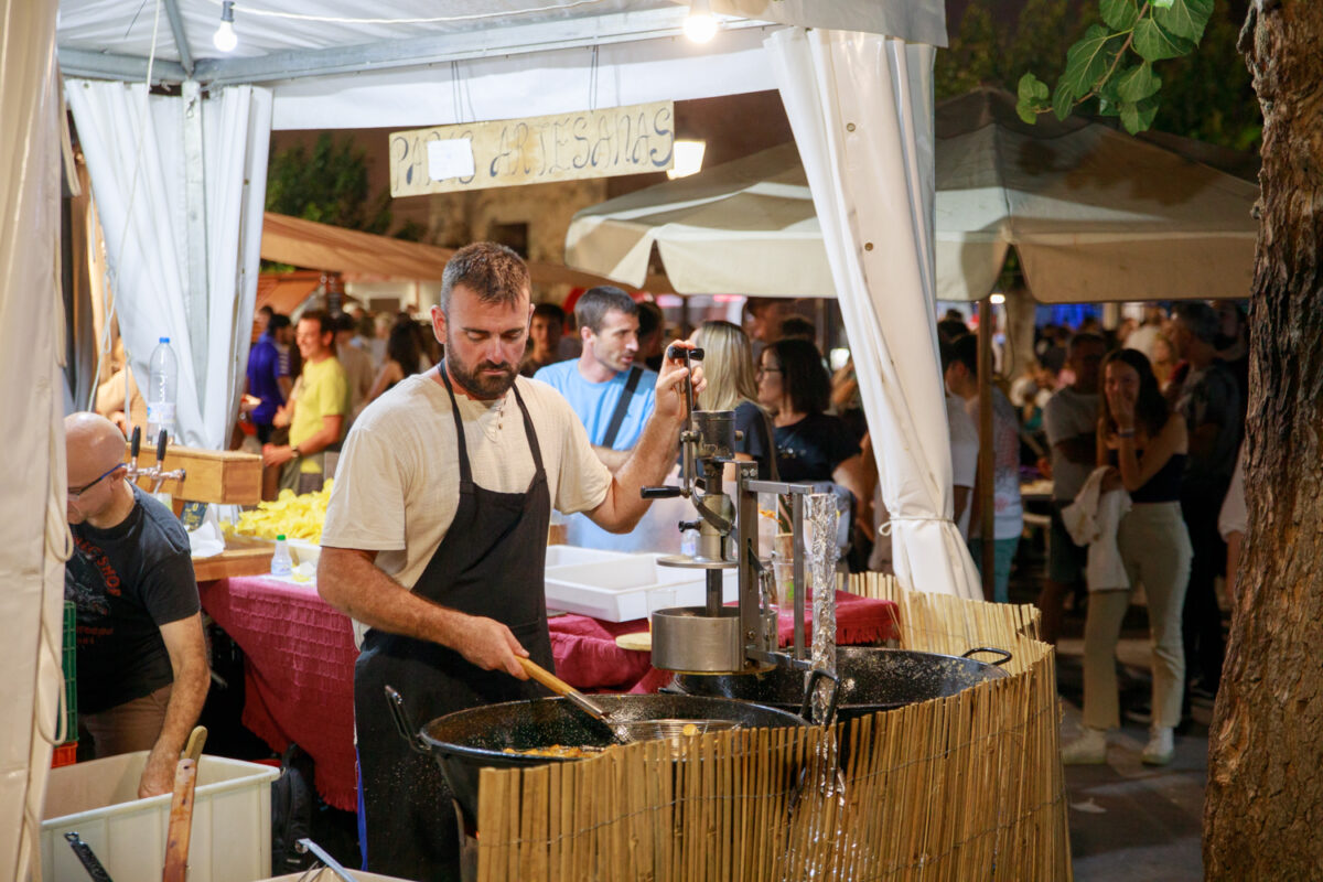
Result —
<instances>
[{"instance_id":1,"label":"white gathered tent curtain hanging behind the clear water bottle","mask_svg":"<svg viewBox=\"0 0 1323 882\"><path fill-rule=\"evenodd\" d=\"M208 290L191 291L185 98L147 97L142 83L86 79L69 81L66 94L105 229L110 290L134 378L147 387L152 349L169 337L180 369L179 439L221 450L242 393L257 298L271 95L234 86L202 100ZM201 340L191 339L191 309L205 312ZM194 364L205 366L201 377Z\"/></svg>"}]
</instances>

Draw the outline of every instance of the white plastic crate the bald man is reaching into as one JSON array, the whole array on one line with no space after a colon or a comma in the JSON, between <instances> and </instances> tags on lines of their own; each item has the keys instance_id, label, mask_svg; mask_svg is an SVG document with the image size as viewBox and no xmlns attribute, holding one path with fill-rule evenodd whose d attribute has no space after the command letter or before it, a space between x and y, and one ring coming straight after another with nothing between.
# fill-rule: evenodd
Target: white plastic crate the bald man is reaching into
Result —
<instances>
[{"instance_id":1,"label":"white plastic crate the bald man is reaching into","mask_svg":"<svg viewBox=\"0 0 1323 882\"><path fill-rule=\"evenodd\" d=\"M77 830L112 879L159 879L165 865L171 795L138 799L147 751L53 768L41 822L48 879L85 879L65 841ZM271 873L270 766L224 756L198 760L189 882L253 882Z\"/></svg>"}]
</instances>

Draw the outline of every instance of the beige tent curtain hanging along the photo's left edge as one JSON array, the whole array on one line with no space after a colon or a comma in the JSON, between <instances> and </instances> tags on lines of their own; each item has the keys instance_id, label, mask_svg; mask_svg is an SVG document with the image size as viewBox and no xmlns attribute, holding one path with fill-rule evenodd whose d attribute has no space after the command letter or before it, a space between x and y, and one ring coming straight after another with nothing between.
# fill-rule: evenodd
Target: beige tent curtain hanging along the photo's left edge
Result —
<instances>
[{"instance_id":1,"label":"beige tent curtain hanging along the photo's left edge","mask_svg":"<svg viewBox=\"0 0 1323 882\"><path fill-rule=\"evenodd\" d=\"M64 738L64 308L56 3L0 1L0 878L37 870L52 744ZM34 517L34 513L36 517Z\"/></svg>"}]
</instances>

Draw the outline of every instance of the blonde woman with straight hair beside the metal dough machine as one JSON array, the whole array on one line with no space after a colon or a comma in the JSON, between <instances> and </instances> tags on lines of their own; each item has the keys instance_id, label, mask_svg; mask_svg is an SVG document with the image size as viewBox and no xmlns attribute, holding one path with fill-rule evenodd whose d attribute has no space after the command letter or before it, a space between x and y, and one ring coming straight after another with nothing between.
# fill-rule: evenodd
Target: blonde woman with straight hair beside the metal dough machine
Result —
<instances>
[{"instance_id":1,"label":"blonde woman with straight hair beside the metal dough machine","mask_svg":"<svg viewBox=\"0 0 1323 882\"><path fill-rule=\"evenodd\" d=\"M705 321L693 340L704 350L703 373L708 380L708 387L699 395L699 407L733 410L736 431L741 432L736 459L758 463L759 480L779 480L774 431L771 419L758 403L749 337L729 321ZM734 477L734 465L726 465L725 480Z\"/></svg>"}]
</instances>

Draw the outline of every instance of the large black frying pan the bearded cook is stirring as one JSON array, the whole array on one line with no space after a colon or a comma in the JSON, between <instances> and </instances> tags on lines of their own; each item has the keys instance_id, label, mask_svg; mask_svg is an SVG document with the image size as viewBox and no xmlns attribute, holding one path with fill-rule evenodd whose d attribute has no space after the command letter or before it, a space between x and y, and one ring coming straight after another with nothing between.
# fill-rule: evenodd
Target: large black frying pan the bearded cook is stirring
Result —
<instances>
[{"instance_id":1,"label":"large black frying pan the bearded cook is stirring","mask_svg":"<svg viewBox=\"0 0 1323 882\"><path fill-rule=\"evenodd\" d=\"M787 710L762 707L744 701L699 696L593 696L607 714L619 722L644 721L726 721L741 729L807 726ZM534 698L486 705L433 719L422 729L409 721L404 701L386 686L401 737L421 754L430 754L441 766L464 820L476 826L478 774L482 768L517 768L546 763L574 762L556 756L529 756L501 752L507 747L531 750L565 744L609 747L610 729L602 726L565 698ZM798 703L796 703L798 707Z\"/></svg>"}]
</instances>

